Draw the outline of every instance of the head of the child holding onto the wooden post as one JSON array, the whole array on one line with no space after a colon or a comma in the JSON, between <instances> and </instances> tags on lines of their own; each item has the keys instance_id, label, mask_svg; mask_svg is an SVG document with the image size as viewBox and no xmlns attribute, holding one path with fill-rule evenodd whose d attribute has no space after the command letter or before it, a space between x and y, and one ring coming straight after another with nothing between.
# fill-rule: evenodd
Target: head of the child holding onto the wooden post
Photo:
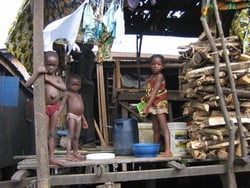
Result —
<instances>
[{"instance_id":1,"label":"head of the child holding onto the wooden post","mask_svg":"<svg viewBox=\"0 0 250 188\"><path fill-rule=\"evenodd\" d=\"M59 57L55 51L48 51L44 53L45 67L49 74L55 73L59 66Z\"/></svg>"}]
</instances>

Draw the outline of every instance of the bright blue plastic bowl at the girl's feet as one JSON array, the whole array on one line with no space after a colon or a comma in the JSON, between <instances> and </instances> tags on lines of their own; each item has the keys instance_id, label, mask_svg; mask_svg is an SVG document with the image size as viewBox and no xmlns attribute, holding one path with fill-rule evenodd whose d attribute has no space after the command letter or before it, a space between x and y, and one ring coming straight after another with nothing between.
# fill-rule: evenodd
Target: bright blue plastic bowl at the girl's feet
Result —
<instances>
[{"instance_id":1,"label":"bright blue plastic bowl at the girl's feet","mask_svg":"<svg viewBox=\"0 0 250 188\"><path fill-rule=\"evenodd\" d=\"M157 143L137 143L132 144L135 157L156 157L160 149Z\"/></svg>"}]
</instances>

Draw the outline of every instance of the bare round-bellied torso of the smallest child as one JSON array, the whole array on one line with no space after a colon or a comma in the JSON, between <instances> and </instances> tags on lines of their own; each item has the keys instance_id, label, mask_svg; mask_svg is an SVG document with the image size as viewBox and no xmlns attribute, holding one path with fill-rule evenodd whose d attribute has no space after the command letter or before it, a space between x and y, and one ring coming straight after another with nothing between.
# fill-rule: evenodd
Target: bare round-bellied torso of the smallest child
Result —
<instances>
[{"instance_id":1,"label":"bare round-bellied torso of the smallest child","mask_svg":"<svg viewBox=\"0 0 250 188\"><path fill-rule=\"evenodd\" d=\"M67 108L68 113L73 113L78 116L83 114L84 104L79 93L68 92Z\"/></svg>"}]
</instances>

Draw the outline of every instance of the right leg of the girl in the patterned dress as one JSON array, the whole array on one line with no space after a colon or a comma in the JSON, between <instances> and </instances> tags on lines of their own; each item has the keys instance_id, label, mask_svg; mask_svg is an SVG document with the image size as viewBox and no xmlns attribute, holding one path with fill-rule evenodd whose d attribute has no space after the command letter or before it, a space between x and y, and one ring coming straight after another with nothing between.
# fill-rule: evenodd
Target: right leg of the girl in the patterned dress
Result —
<instances>
[{"instance_id":1,"label":"right leg of the girl in the patterned dress","mask_svg":"<svg viewBox=\"0 0 250 188\"><path fill-rule=\"evenodd\" d=\"M157 118L160 123L160 127L163 130L163 136L165 141L165 155L171 156L171 149L170 149L170 132L167 125L167 117L166 114L158 114Z\"/></svg>"}]
</instances>

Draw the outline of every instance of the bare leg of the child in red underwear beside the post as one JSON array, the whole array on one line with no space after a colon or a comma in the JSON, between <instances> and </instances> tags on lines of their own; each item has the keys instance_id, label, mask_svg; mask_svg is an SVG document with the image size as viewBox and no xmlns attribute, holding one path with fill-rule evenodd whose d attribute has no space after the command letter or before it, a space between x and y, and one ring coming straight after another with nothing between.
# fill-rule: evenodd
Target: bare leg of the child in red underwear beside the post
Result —
<instances>
[{"instance_id":1,"label":"bare leg of the child in red underwear beside the post","mask_svg":"<svg viewBox=\"0 0 250 188\"><path fill-rule=\"evenodd\" d=\"M54 151L55 151L55 129L58 122L59 112L55 111L49 117L48 123L48 149L49 149L49 163L52 165L63 166L63 163L60 161L56 161L54 159Z\"/></svg>"}]
</instances>

